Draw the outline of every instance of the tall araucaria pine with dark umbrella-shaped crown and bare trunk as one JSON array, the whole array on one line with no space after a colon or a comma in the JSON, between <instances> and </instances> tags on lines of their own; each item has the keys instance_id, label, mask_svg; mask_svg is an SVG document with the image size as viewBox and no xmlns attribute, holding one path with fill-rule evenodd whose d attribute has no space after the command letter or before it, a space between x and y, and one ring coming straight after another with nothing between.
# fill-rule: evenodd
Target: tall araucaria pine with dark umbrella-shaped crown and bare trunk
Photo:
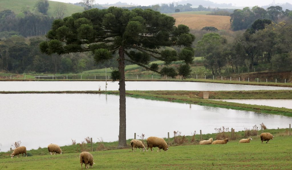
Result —
<instances>
[{"instance_id":1,"label":"tall araucaria pine with dark umbrella-shaped crown and bare trunk","mask_svg":"<svg viewBox=\"0 0 292 170\"><path fill-rule=\"evenodd\" d=\"M91 51L95 62L106 62L118 53L118 70L112 71L113 81L119 80L120 126L119 148L126 144L126 91L125 60L157 72L162 76L190 77L190 65L195 39L185 25L175 27L173 17L151 9L91 9L57 19L40 43L41 52L59 55L70 52ZM179 50L173 47L176 46ZM165 50L166 49L166 50ZM164 61L164 66L150 64L150 59ZM177 69L169 67L174 61L183 61Z\"/></svg>"}]
</instances>

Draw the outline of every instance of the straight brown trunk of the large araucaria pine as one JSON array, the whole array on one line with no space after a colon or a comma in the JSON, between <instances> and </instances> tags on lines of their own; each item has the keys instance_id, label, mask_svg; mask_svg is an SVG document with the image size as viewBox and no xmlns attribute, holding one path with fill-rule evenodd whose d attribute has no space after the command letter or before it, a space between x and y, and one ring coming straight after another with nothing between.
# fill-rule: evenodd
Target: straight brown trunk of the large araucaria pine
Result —
<instances>
[{"instance_id":1,"label":"straight brown trunk of the large araucaria pine","mask_svg":"<svg viewBox=\"0 0 292 170\"><path fill-rule=\"evenodd\" d=\"M124 47L119 48L119 91L120 91L120 128L118 148L127 148L126 143L126 85Z\"/></svg>"}]
</instances>

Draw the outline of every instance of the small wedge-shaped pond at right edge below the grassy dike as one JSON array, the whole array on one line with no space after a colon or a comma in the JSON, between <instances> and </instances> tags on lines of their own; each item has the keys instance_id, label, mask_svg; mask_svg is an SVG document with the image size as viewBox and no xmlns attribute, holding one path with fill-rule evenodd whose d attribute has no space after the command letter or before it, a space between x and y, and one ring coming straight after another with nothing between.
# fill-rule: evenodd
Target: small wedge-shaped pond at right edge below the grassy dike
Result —
<instances>
[{"instance_id":1,"label":"small wedge-shaped pond at right edge below the grassy dike","mask_svg":"<svg viewBox=\"0 0 292 170\"><path fill-rule=\"evenodd\" d=\"M291 99L215 99L215 100L272 107L285 107L292 109Z\"/></svg>"}]
</instances>

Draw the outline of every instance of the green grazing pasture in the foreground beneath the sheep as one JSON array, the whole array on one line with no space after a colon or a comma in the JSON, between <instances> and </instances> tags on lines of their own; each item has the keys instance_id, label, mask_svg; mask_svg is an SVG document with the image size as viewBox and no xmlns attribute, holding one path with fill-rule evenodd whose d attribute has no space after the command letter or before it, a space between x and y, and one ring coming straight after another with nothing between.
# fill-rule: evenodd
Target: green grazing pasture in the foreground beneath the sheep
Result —
<instances>
[{"instance_id":1,"label":"green grazing pasture in the foreground beneath the sheep","mask_svg":"<svg viewBox=\"0 0 292 170\"><path fill-rule=\"evenodd\" d=\"M291 169L292 136L286 136L286 129L265 132L275 136L269 144L261 144L259 135L253 136L251 143L239 144L240 134L244 132L238 132L239 138L226 145L198 145L194 142L170 146L168 151L160 153L156 152L157 148L153 153L132 153L131 148L94 151L91 152L96 163L93 169ZM215 135L206 134L203 139ZM117 143L112 145L117 146ZM72 147L72 152L69 152L69 147ZM42 148L38 150L44 150L45 155L34 153L30 157L13 159L8 156L1 159L0 169L81 169L76 145L61 148L65 150L62 155L49 155L46 148Z\"/></svg>"}]
</instances>

